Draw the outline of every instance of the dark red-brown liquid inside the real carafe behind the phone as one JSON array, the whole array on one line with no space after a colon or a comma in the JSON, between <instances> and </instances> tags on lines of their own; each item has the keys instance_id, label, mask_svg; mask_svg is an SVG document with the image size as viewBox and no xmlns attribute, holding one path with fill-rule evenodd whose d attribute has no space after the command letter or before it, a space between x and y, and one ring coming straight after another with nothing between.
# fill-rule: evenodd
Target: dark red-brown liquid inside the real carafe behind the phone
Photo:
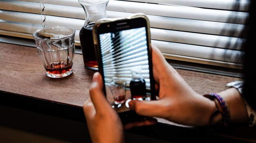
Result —
<instances>
[{"instance_id":1,"label":"dark red-brown liquid inside the real carafe behind the phone","mask_svg":"<svg viewBox=\"0 0 256 143\"><path fill-rule=\"evenodd\" d=\"M92 27L82 28L79 33L81 49L83 53L83 63L89 69L98 70L98 62L94 50L92 39Z\"/></svg>"}]
</instances>

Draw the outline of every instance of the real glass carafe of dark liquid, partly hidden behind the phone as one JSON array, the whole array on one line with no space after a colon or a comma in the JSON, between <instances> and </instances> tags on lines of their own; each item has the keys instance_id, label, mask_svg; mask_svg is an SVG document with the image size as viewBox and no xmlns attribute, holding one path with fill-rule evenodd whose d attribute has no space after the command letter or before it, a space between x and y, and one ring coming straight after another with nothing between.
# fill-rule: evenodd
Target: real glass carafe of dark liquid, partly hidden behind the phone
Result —
<instances>
[{"instance_id":1,"label":"real glass carafe of dark liquid, partly hidden behind the phone","mask_svg":"<svg viewBox=\"0 0 256 143\"><path fill-rule=\"evenodd\" d=\"M78 0L85 11L85 23L80 30L79 39L83 54L83 63L88 69L98 70L98 63L94 51L92 28L94 23L107 18L106 7L109 0Z\"/></svg>"}]
</instances>

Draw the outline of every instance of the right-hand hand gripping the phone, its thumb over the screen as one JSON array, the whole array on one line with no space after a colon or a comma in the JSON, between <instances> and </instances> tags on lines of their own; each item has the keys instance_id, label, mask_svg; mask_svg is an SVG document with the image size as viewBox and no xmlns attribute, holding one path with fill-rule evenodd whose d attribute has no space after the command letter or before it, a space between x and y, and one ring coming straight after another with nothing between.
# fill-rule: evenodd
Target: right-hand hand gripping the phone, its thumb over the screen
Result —
<instances>
[{"instance_id":1,"label":"right-hand hand gripping the phone, its thumb over the screen","mask_svg":"<svg viewBox=\"0 0 256 143\"><path fill-rule=\"evenodd\" d=\"M152 45L153 76L159 100L129 102L139 115L161 117L178 124L206 126L215 103L196 93Z\"/></svg>"}]
</instances>

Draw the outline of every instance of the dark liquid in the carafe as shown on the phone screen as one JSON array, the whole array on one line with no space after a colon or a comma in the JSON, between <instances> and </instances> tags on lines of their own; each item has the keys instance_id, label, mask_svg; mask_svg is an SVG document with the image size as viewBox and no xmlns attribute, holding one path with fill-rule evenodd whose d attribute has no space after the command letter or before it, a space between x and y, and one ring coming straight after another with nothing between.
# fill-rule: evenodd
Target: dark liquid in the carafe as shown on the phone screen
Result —
<instances>
[{"instance_id":1,"label":"dark liquid in the carafe as shown on the phone screen","mask_svg":"<svg viewBox=\"0 0 256 143\"><path fill-rule=\"evenodd\" d=\"M130 81L132 99L146 98L146 82L143 78L134 78Z\"/></svg>"}]
</instances>

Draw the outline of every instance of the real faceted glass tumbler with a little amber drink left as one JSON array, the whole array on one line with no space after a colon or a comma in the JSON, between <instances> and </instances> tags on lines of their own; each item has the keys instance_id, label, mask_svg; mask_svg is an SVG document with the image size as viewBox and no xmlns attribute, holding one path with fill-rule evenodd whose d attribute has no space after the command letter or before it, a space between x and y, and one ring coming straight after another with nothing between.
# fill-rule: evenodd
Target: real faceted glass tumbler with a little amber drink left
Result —
<instances>
[{"instance_id":1,"label":"real faceted glass tumbler with a little amber drink left","mask_svg":"<svg viewBox=\"0 0 256 143\"><path fill-rule=\"evenodd\" d=\"M70 26L49 26L33 33L39 57L50 78L72 74L75 32Z\"/></svg>"}]
</instances>

